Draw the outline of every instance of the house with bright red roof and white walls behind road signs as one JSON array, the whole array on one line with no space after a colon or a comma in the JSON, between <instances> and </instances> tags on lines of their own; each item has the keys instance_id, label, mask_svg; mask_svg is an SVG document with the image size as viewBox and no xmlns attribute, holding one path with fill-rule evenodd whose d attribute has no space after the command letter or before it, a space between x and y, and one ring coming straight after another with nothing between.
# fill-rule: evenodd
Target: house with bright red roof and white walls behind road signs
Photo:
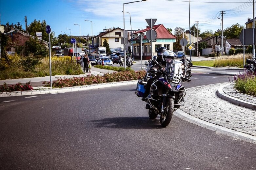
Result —
<instances>
[{"instance_id":1,"label":"house with bright red roof and white walls behind road signs","mask_svg":"<svg viewBox=\"0 0 256 170\"><path fill-rule=\"evenodd\" d=\"M156 40L152 41L153 56L156 55L157 50L160 47L166 47L167 50L173 51L173 43L176 42L177 37L171 34L163 24L154 25L152 29L157 33ZM138 39L138 36L143 35L142 58L143 60L151 59L151 42L146 37L147 31L150 31L149 26L147 26L146 29L133 33L134 38L132 40L132 50L134 58L140 58L140 39Z\"/></svg>"}]
</instances>

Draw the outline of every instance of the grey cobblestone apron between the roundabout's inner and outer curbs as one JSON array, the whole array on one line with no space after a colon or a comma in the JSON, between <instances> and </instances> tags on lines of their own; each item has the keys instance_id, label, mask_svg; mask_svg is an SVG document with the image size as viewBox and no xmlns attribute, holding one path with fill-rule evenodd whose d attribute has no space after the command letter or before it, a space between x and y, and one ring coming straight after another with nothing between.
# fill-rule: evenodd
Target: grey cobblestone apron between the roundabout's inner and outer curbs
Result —
<instances>
[{"instance_id":1,"label":"grey cobblestone apron between the roundabout's inner and outer curbs","mask_svg":"<svg viewBox=\"0 0 256 170\"><path fill-rule=\"evenodd\" d=\"M204 85L187 89L181 110L187 114L231 130L255 136L256 111L237 106L219 98L216 91L222 85ZM255 140L256 142L256 140Z\"/></svg>"}]
</instances>

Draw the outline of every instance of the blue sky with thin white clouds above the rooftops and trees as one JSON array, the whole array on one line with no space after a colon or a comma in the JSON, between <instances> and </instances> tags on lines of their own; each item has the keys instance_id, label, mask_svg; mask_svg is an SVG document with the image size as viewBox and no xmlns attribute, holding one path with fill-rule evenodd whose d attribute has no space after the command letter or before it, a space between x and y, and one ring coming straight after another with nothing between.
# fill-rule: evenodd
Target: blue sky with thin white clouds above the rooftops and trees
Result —
<instances>
[{"instance_id":1,"label":"blue sky with thin white clouds above the rooftops and trees","mask_svg":"<svg viewBox=\"0 0 256 170\"><path fill-rule=\"evenodd\" d=\"M1 24L20 22L25 29L25 16L28 24L36 20L45 20L55 36L71 34L79 36L98 35L103 29L123 28L123 3L136 0L0 0ZM214 2L214 3L213 3ZM247 3L246 3L247 2ZM125 11L131 14L132 29L146 28L146 18L156 18L156 24L166 28L189 29L188 0L147 0L125 5ZM252 0L190 0L190 26L199 21L201 32L220 29L220 11L225 10L224 29L232 24L243 25L247 18L253 17ZM255 15L256 16L256 15ZM125 28L130 29L130 17L125 13Z\"/></svg>"}]
</instances>

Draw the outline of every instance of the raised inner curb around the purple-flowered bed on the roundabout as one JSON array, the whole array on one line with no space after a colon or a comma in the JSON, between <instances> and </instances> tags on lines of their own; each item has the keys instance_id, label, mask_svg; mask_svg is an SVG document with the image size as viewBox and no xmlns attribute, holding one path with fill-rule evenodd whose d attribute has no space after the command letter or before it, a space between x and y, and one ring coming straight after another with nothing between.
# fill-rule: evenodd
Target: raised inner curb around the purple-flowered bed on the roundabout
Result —
<instances>
[{"instance_id":1,"label":"raised inner curb around the purple-flowered bed on the roundabout","mask_svg":"<svg viewBox=\"0 0 256 170\"><path fill-rule=\"evenodd\" d=\"M252 110L256 110L256 104L250 103L250 102L247 102L247 101L244 101L244 100L240 100L240 99L237 99L237 98L234 98L234 97L229 96L226 93L224 93L223 92L223 88L225 86L226 85L222 85L217 90L217 96L219 98L224 99L226 101L229 101L230 103L233 103L233 104L238 105L238 106L243 106L243 107L246 107L246 108L249 108L249 109L252 109Z\"/></svg>"}]
</instances>

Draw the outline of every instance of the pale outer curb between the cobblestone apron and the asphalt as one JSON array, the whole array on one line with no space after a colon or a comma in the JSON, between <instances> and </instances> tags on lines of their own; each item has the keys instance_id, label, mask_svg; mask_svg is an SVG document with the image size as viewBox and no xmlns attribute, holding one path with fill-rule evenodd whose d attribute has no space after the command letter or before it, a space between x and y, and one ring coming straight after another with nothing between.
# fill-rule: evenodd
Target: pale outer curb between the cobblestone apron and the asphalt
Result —
<instances>
[{"instance_id":1,"label":"pale outer curb between the cobblestone apron and the asphalt","mask_svg":"<svg viewBox=\"0 0 256 170\"><path fill-rule=\"evenodd\" d=\"M215 124L207 122L205 120L201 120L199 118L196 118L194 116L191 116L191 115L185 113L181 109L176 110L174 112L174 115L183 120L186 120L190 123L193 123L195 125L201 126L206 129L209 129L211 131L215 131L215 132L218 132L218 133L221 133L221 134L224 134L224 135L236 138L236 139L240 139L240 140L243 140L243 141L246 141L249 143L256 144L256 136L249 135L249 134L239 132L239 131L235 131L232 129L228 129L228 128L225 128L225 127L222 127L219 125L215 125Z\"/></svg>"}]
</instances>

